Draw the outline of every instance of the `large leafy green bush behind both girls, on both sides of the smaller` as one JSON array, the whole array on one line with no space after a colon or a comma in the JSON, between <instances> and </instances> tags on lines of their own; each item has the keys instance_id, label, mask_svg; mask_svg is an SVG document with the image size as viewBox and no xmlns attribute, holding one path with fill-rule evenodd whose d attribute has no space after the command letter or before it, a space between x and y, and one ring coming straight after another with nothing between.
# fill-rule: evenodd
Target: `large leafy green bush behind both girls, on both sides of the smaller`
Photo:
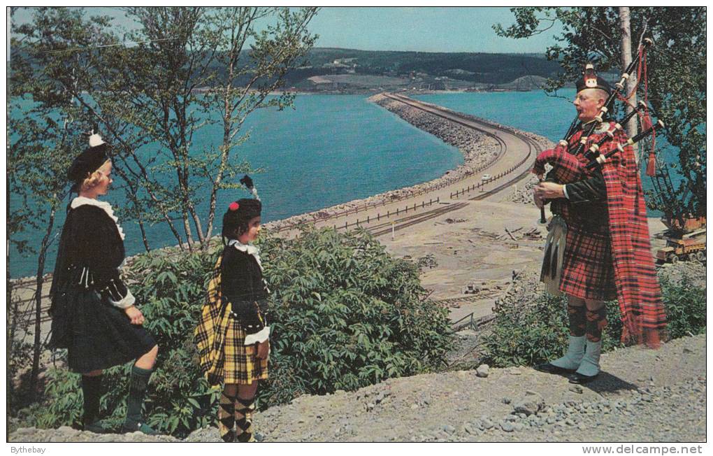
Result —
<instances>
[{"instance_id":1,"label":"large leafy green bush behind both girls, on both sides of the smaller","mask_svg":"<svg viewBox=\"0 0 713 456\"><path fill-rule=\"evenodd\" d=\"M450 348L447 311L424 299L416 265L391 258L368 233L310 230L261 244L273 291L270 380L259 389L261 408L426 372ZM127 273L159 345L145 417L179 437L215 424L220 391L202 378L193 330L218 255L158 251L138 255ZM130 368L105 372L101 408L111 411L104 421L115 431L125 415ZM79 375L49 370L46 397L37 425L81 423Z\"/></svg>"}]
</instances>

